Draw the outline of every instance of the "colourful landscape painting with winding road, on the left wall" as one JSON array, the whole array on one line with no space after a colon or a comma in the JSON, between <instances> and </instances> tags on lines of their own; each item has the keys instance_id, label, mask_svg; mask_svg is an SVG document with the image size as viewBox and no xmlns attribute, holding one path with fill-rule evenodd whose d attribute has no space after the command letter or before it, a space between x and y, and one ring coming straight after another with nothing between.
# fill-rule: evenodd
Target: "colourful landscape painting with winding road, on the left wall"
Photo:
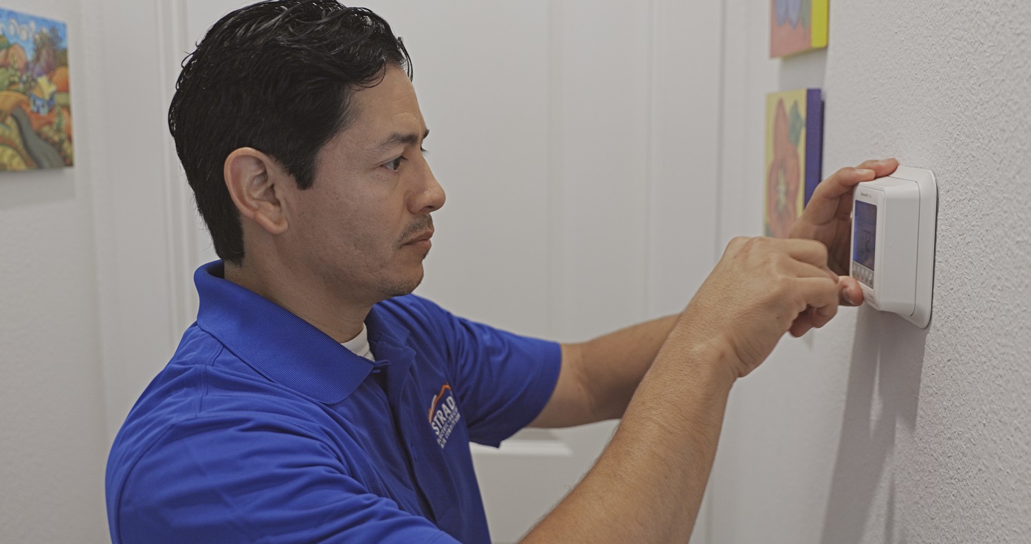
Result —
<instances>
[{"instance_id":1,"label":"colourful landscape painting with winding road, on the left wall","mask_svg":"<svg viewBox=\"0 0 1031 544\"><path fill-rule=\"evenodd\" d=\"M67 27L0 9L0 170L73 162Z\"/></svg>"}]
</instances>

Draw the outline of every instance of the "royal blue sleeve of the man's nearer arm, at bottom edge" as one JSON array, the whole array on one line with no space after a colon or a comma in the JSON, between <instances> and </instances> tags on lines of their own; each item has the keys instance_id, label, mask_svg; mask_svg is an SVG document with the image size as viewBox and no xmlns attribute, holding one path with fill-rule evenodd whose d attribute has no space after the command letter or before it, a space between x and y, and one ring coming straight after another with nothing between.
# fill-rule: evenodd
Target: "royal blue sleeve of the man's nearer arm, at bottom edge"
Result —
<instances>
[{"instance_id":1,"label":"royal blue sleeve of the man's nearer arm, at bottom edge","mask_svg":"<svg viewBox=\"0 0 1031 544\"><path fill-rule=\"evenodd\" d=\"M114 544L459 544L364 488L317 433L262 414L174 425L114 491Z\"/></svg>"}]
</instances>

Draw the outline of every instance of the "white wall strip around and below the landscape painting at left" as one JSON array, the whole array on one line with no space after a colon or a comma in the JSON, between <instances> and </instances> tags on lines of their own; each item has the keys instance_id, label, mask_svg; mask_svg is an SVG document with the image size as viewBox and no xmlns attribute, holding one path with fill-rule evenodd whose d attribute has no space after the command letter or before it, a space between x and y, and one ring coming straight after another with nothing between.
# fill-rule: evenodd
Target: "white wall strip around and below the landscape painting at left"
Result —
<instances>
[{"instance_id":1,"label":"white wall strip around and below the landscape painting at left","mask_svg":"<svg viewBox=\"0 0 1031 544\"><path fill-rule=\"evenodd\" d=\"M75 167L0 172L0 540L106 541L104 395L93 228L98 33L79 2L4 7L68 23Z\"/></svg>"}]
</instances>

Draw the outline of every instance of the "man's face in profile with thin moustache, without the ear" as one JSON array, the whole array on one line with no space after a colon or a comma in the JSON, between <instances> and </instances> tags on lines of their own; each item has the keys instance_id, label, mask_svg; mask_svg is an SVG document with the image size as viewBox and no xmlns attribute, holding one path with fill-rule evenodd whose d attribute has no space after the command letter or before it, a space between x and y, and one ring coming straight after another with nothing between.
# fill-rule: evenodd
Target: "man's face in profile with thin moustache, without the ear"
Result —
<instances>
[{"instance_id":1,"label":"man's face in profile with thin moustache, without the ear","mask_svg":"<svg viewBox=\"0 0 1031 544\"><path fill-rule=\"evenodd\" d=\"M352 124L319 153L312 187L292 191L284 243L288 265L304 266L348 298L375 302L410 293L423 280L430 213L444 193L423 157L426 123L402 70L388 68L352 106Z\"/></svg>"}]
</instances>

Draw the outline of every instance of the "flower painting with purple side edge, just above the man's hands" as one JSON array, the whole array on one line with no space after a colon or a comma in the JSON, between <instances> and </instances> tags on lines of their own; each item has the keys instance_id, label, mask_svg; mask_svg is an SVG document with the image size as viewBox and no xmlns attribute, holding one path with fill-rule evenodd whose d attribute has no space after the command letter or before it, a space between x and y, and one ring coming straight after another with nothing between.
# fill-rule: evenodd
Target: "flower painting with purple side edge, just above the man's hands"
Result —
<instances>
[{"instance_id":1,"label":"flower painting with purple side edge, just above the man's hands","mask_svg":"<svg viewBox=\"0 0 1031 544\"><path fill-rule=\"evenodd\" d=\"M766 96L765 234L786 238L820 184L824 146L820 89Z\"/></svg>"}]
</instances>

